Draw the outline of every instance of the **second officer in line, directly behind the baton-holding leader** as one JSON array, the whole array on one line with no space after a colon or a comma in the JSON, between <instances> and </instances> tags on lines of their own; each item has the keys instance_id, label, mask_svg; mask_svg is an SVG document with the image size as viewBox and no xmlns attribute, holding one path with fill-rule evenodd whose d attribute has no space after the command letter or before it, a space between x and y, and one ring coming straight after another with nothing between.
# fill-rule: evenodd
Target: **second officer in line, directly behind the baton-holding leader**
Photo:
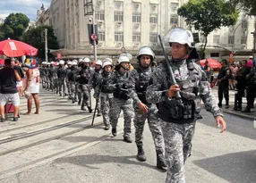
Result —
<instances>
[{"instance_id":1,"label":"second officer in line, directly behind the baton-holding leader","mask_svg":"<svg viewBox=\"0 0 256 183\"><path fill-rule=\"evenodd\" d=\"M138 148L137 159L141 162L146 161L146 156L142 147L142 133L145 121L148 120L149 129L157 152L157 167L159 169L165 169L164 140L160 123L156 115L158 109L156 104L150 104L146 100L146 89L149 86L149 79L153 73L151 65L155 59L155 54L149 46L142 46L137 54L137 59L139 61L139 67L131 72L129 82L129 96L133 99L133 108L135 112L133 122L135 126L135 142Z\"/></svg>"}]
</instances>

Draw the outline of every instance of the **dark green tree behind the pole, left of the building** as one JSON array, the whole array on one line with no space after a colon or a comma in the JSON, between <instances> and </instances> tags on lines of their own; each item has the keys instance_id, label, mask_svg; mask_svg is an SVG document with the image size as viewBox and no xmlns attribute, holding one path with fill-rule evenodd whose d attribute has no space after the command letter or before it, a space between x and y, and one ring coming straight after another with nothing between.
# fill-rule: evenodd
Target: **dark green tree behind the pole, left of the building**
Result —
<instances>
[{"instance_id":1,"label":"dark green tree behind the pole, left of the building","mask_svg":"<svg viewBox=\"0 0 256 183\"><path fill-rule=\"evenodd\" d=\"M23 34L22 40L38 48L38 57L45 58L45 29L47 29L47 47L48 49L59 49L57 38L55 37L54 29L49 26L38 26L37 28L30 28Z\"/></svg>"}]
</instances>

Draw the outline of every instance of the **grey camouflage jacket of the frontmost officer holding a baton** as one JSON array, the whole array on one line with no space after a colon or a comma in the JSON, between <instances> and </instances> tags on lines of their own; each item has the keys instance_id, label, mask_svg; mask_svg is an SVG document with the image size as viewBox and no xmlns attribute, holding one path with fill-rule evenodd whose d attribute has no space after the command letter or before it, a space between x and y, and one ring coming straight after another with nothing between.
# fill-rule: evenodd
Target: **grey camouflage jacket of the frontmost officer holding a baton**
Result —
<instances>
[{"instance_id":1,"label":"grey camouflage jacket of the frontmost officer holding a baton","mask_svg":"<svg viewBox=\"0 0 256 183\"><path fill-rule=\"evenodd\" d=\"M215 96L210 90L209 82L206 79L202 79L203 71L201 71L201 66L195 62L191 63L192 70L189 71L190 66L188 66L186 60L181 62L170 62L177 84L181 83L183 80L190 81L190 85L181 87L181 96L186 95L183 93L185 87L196 86L199 88L198 96L201 97L206 110L211 112L214 117L217 117L218 115L222 116L223 114L216 103ZM167 90L171 85L166 64L163 63L153 72L152 84L147 88L146 98L149 103L159 104L175 100L167 97Z\"/></svg>"}]
</instances>

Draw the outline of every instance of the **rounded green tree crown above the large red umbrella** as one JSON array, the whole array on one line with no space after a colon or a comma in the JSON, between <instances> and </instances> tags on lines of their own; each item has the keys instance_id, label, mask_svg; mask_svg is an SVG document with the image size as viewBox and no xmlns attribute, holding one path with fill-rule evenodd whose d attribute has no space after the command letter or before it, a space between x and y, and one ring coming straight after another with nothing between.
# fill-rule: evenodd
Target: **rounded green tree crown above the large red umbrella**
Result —
<instances>
[{"instance_id":1,"label":"rounded green tree crown above the large red umbrella","mask_svg":"<svg viewBox=\"0 0 256 183\"><path fill-rule=\"evenodd\" d=\"M21 39L23 32L28 28L30 19L23 13L11 13L4 20L4 38Z\"/></svg>"}]
</instances>

